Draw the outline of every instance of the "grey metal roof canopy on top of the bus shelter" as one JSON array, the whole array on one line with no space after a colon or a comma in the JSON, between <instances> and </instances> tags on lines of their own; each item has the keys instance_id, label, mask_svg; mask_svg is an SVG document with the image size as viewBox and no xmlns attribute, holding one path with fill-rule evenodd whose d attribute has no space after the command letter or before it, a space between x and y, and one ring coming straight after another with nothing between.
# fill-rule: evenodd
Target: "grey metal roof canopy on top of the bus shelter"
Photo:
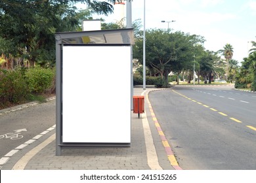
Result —
<instances>
[{"instance_id":1,"label":"grey metal roof canopy on top of the bus shelter","mask_svg":"<svg viewBox=\"0 0 256 183\"><path fill-rule=\"evenodd\" d=\"M135 44L133 28L63 32L55 39L58 44Z\"/></svg>"}]
</instances>

